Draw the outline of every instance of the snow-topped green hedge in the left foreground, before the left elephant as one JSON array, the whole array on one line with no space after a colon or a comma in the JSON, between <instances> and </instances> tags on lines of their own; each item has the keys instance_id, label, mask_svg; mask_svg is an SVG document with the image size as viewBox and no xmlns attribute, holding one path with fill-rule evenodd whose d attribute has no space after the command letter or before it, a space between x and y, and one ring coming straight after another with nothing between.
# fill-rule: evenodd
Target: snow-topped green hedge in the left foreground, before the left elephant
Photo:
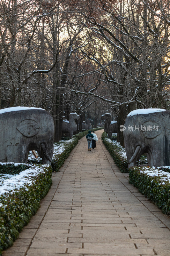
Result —
<instances>
[{"instance_id":1,"label":"snow-topped green hedge in the left foreground, before the left elephant","mask_svg":"<svg viewBox=\"0 0 170 256\"><path fill-rule=\"evenodd\" d=\"M13 244L18 237L19 232L29 222L31 216L37 212L40 207L40 200L48 193L52 184L52 168L48 165L33 164L0 164L0 170L7 174L16 174L25 168L30 168L28 176L27 170L23 177L28 178L28 184L18 188L7 190L5 194L0 196L0 254L2 250ZM4 170L5 169L5 170ZM38 171L35 175L33 170ZM29 170L29 169L28 169ZM24 172L22 172L24 174Z\"/></svg>"}]
</instances>

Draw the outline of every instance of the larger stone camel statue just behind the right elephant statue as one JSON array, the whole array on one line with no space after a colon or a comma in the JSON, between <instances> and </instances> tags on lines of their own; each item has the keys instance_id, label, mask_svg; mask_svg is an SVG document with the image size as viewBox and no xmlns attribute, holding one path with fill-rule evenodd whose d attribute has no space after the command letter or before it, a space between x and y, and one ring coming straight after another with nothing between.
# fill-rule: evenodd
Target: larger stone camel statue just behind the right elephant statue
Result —
<instances>
[{"instance_id":1,"label":"larger stone camel statue just behind the right elephant statue","mask_svg":"<svg viewBox=\"0 0 170 256\"><path fill-rule=\"evenodd\" d=\"M101 118L106 119L104 124L104 131L107 132L108 137L111 139L112 133L117 133L117 121L111 121L111 114L108 113L103 114Z\"/></svg>"}]
</instances>

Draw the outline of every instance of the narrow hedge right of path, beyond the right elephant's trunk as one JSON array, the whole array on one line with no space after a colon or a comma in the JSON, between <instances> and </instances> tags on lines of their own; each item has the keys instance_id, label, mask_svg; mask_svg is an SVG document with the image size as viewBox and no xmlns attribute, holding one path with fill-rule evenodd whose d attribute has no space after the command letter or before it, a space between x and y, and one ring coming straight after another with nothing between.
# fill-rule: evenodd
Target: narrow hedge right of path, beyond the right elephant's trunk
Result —
<instances>
[{"instance_id":1,"label":"narrow hedge right of path, beyond the right elephant's trunk","mask_svg":"<svg viewBox=\"0 0 170 256\"><path fill-rule=\"evenodd\" d=\"M122 148L110 143L106 137L107 137L107 133L103 132L101 139L103 140L103 144L107 148L108 152L113 157L115 164L119 167L121 172L129 172L128 161L126 158L122 157L120 154L120 151L122 150Z\"/></svg>"}]
</instances>

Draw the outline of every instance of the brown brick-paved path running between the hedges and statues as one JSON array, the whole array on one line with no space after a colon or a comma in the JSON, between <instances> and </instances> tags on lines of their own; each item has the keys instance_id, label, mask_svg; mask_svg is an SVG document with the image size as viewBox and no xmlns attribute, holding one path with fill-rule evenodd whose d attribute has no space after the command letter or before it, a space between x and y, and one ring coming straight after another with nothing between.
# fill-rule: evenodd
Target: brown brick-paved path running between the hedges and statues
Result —
<instances>
[{"instance_id":1,"label":"brown brick-paved path running between the hedges and statues","mask_svg":"<svg viewBox=\"0 0 170 256\"><path fill-rule=\"evenodd\" d=\"M3 256L170 255L170 218L138 193L96 134L79 140L41 208Z\"/></svg>"}]
</instances>

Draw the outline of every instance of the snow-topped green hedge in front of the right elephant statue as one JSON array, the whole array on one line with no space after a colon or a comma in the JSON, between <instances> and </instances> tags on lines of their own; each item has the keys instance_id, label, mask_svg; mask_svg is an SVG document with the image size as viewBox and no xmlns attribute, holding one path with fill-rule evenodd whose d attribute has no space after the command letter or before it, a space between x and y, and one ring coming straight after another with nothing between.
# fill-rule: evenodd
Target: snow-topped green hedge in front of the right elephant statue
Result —
<instances>
[{"instance_id":1,"label":"snow-topped green hedge in front of the right elephant statue","mask_svg":"<svg viewBox=\"0 0 170 256\"><path fill-rule=\"evenodd\" d=\"M141 194L152 200L163 213L170 214L170 177L167 175L169 173L156 167L136 166L129 169L129 182Z\"/></svg>"}]
</instances>

